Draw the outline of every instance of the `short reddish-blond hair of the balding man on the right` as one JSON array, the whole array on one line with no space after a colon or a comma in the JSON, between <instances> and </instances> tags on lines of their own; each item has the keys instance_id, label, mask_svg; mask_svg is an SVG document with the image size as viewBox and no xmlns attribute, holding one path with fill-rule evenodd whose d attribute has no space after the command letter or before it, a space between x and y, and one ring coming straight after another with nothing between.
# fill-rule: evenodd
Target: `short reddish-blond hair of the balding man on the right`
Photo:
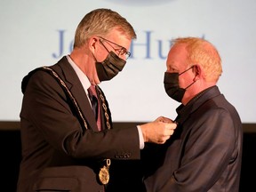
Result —
<instances>
[{"instance_id":1,"label":"short reddish-blond hair of the balding man on the right","mask_svg":"<svg viewBox=\"0 0 256 192\"><path fill-rule=\"evenodd\" d=\"M207 82L217 82L222 73L220 54L209 41L198 37L184 37L173 40L172 46L186 44L188 65L196 64L204 69Z\"/></svg>"}]
</instances>

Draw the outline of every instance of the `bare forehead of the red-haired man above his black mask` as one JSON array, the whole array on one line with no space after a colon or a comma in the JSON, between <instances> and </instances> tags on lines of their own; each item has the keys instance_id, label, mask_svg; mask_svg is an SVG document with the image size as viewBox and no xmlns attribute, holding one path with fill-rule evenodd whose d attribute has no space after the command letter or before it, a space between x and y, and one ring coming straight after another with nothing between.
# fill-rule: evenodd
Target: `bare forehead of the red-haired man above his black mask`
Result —
<instances>
[{"instance_id":1,"label":"bare forehead of the red-haired man above his black mask","mask_svg":"<svg viewBox=\"0 0 256 192\"><path fill-rule=\"evenodd\" d=\"M167 68L182 69L187 67L187 49L185 44L172 46L166 60Z\"/></svg>"}]
</instances>

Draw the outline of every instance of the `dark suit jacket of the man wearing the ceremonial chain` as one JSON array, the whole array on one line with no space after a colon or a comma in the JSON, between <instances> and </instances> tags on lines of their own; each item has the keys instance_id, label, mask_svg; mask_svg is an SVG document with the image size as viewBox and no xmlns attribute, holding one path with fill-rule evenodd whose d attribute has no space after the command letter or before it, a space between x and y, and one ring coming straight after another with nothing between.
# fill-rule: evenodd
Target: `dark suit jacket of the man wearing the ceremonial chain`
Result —
<instances>
[{"instance_id":1,"label":"dark suit jacket of the man wearing the ceremonial chain","mask_svg":"<svg viewBox=\"0 0 256 192\"><path fill-rule=\"evenodd\" d=\"M52 68L76 98L88 129L56 78L44 70L30 72L22 82L22 160L17 191L103 191L98 173L104 159L140 158L137 128L107 132L106 119L101 114L105 130L98 132L83 85L67 58ZM107 100L106 104L108 108ZM112 124L109 108L108 116Z\"/></svg>"}]
</instances>

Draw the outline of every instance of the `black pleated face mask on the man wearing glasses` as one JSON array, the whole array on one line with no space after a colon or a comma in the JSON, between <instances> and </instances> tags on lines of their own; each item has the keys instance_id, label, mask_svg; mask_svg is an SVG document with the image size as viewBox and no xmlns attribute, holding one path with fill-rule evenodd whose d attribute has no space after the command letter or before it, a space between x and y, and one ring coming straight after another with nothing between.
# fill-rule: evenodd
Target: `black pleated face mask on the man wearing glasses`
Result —
<instances>
[{"instance_id":1,"label":"black pleated face mask on the man wearing glasses","mask_svg":"<svg viewBox=\"0 0 256 192\"><path fill-rule=\"evenodd\" d=\"M96 70L101 81L108 81L122 71L126 61L119 58L115 52L109 52L102 62L96 61Z\"/></svg>"}]
</instances>

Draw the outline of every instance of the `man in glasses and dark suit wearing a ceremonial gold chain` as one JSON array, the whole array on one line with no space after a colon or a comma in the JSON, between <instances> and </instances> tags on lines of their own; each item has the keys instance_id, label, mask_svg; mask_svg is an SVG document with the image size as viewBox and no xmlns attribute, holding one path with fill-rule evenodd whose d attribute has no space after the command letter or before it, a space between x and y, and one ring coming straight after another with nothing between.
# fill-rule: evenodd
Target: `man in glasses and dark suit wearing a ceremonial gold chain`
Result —
<instances>
[{"instance_id":1,"label":"man in glasses and dark suit wearing a ceremonial gold chain","mask_svg":"<svg viewBox=\"0 0 256 192\"><path fill-rule=\"evenodd\" d=\"M163 144L170 138L176 124L163 116L112 129L98 84L124 68L134 38L131 24L117 12L94 10L76 28L69 55L23 78L17 191L103 191L112 158L140 159L144 142Z\"/></svg>"}]
</instances>

